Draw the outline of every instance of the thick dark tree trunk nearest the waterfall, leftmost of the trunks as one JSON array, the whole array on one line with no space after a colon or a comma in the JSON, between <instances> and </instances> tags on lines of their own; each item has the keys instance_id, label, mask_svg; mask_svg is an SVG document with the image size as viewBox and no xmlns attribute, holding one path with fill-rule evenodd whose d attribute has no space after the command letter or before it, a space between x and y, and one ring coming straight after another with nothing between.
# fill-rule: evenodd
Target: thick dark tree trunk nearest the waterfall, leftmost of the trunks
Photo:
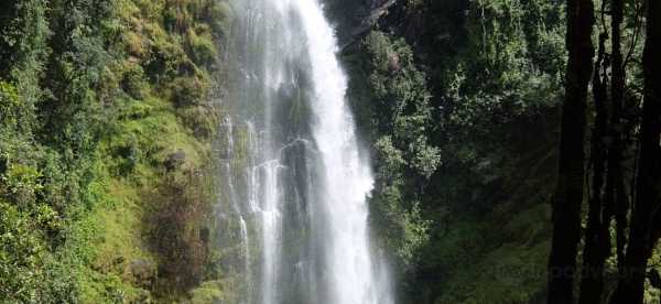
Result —
<instances>
[{"instance_id":1,"label":"thick dark tree trunk nearest the waterfall, leftmost of the trunks","mask_svg":"<svg viewBox=\"0 0 661 304\"><path fill-rule=\"evenodd\" d=\"M567 0L568 63L561 126L557 184L553 202L553 239L549 258L548 303L573 303L576 250L581 238L585 107L592 76L594 4Z\"/></svg>"}]
</instances>

